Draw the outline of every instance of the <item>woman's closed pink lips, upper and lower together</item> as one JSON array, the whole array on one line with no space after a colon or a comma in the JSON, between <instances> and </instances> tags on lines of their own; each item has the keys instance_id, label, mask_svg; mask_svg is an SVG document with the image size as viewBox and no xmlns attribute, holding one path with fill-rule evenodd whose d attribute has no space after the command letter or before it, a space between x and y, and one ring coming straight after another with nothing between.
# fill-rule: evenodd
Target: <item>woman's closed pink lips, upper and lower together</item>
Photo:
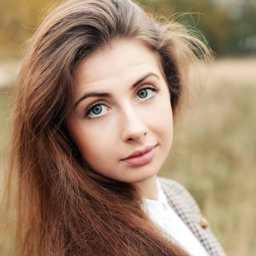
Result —
<instances>
[{"instance_id":1,"label":"woman's closed pink lips, upper and lower together","mask_svg":"<svg viewBox=\"0 0 256 256\"><path fill-rule=\"evenodd\" d=\"M148 147L144 148L143 150L135 151L132 154L132 155L137 154L137 156L125 158L125 159L122 159L122 161L131 166L141 166L143 164L150 162L153 159L153 157L156 153L156 150L157 150L156 145L148 146ZM141 154L142 151L144 151L144 154Z\"/></svg>"}]
</instances>

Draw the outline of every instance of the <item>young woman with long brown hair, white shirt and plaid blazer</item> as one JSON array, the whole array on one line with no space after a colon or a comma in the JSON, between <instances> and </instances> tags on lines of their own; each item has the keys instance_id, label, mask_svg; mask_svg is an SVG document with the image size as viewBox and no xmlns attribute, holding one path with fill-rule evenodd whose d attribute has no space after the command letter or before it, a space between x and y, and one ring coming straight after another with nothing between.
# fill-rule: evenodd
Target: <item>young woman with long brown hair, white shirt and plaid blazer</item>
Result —
<instances>
[{"instance_id":1,"label":"young woman with long brown hair, white shirt and plaid blazer","mask_svg":"<svg viewBox=\"0 0 256 256\"><path fill-rule=\"evenodd\" d=\"M18 256L225 255L186 189L157 177L189 67L210 58L130 0L71 0L48 15L12 116Z\"/></svg>"}]
</instances>

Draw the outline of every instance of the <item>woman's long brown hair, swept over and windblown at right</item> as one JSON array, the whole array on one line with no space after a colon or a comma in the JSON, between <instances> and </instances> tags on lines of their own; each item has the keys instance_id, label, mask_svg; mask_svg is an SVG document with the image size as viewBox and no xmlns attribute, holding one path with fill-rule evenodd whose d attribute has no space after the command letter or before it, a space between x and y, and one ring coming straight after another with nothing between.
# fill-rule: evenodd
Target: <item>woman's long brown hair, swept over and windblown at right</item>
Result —
<instances>
[{"instance_id":1,"label":"woman's long brown hair, swept over and windblown at right","mask_svg":"<svg viewBox=\"0 0 256 256\"><path fill-rule=\"evenodd\" d=\"M174 118L186 102L189 66L212 58L183 25L160 22L131 0L70 0L47 16L29 41L11 118L2 207L14 203L18 256L187 255L143 212L137 189L88 165L65 125L75 68L121 40L159 54Z\"/></svg>"}]
</instances>

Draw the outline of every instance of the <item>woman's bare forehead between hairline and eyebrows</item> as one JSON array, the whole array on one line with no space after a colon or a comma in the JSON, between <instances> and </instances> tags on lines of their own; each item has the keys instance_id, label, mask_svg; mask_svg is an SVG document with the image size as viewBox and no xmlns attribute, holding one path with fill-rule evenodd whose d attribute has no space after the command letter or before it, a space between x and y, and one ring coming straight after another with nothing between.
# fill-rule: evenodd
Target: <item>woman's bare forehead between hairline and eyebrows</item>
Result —
<instances>
[{"instance_id":1,"label":"woman's bare forehead between hairline and eyebrows","mask_svg":"<svg viewBox=\"0 0 256 256\"><path fill-rule=\"evenodd\" d=\"M131 84L143 74L160 76L157 55L142 43L125 41L102 50L82 61L76 69L76 86L87 87L112 83ZM79 88L76 88L79 89Z\"/></svg>"}]
</instances>

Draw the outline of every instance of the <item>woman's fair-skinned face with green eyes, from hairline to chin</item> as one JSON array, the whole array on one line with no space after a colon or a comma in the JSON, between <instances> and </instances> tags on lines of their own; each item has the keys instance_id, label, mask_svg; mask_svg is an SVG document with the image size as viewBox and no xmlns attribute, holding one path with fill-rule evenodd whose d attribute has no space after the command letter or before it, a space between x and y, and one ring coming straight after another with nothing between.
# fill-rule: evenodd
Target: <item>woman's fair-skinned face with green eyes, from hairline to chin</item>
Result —
<instances>
[{"instance_id":1,"label":"woman's fair-skinned face with green eyes, from hairline to chin","mask_svg":"<svg viewBox=\"0 0 256 256\"><path fill-rule=\"evenodd\" d=\"M123 41L82 61L74 80L76 107L67 128L90 166L128 183L156 175L173 136L170 94L157 55L139 42ZM155 145L149 162L122 160Z\"/></svg>"}]
</instances>

